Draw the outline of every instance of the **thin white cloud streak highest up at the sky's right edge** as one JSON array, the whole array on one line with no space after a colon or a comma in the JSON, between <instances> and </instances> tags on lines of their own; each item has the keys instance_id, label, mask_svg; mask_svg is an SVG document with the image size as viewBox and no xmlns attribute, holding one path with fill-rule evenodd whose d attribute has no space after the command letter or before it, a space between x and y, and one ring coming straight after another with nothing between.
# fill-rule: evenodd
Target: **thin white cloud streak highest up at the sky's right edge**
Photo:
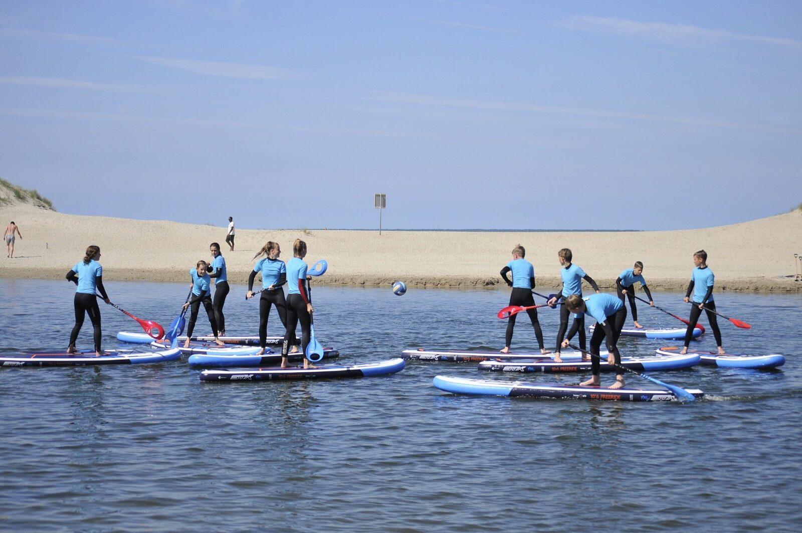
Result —
<instances>
[{"instance_id":1,"label":"thin white cloud streak highest up at the sky's right edge","mask_svg":"<svg viewBox=\"0 0 802 533\"><path fill-rule=\"evenodd\" d=\"M660 41L699 42L720 40L741 40L753 43L773 44L802 49L802 41L783 37L738 34L725 30L710 30L688 24L669 24L666 22L638 22L618 17L575 16L555 22L556 26L569 30L597 31L618 35L635 35Z\"/></svg>"}]
</instances>

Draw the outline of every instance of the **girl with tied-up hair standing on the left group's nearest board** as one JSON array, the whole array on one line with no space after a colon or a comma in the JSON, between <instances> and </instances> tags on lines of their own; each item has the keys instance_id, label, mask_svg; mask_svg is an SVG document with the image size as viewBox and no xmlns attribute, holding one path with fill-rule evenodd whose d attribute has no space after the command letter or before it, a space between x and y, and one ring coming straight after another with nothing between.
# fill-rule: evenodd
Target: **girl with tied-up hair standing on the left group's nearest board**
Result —
<instances>
[{"instance_id":1,"label":"girl with tied-up hair standing on the left group's nearest board","mask_svg":"<svg viewBox=\"0 0 802 533\"><path fill-rule=\"evenodd\" d=\"M287 263L287 331L284 334L284 344L282 344L282 367L290 366L287 361L287 353L290 351L290 342L295 336L295 327L298 320L301 321L301 351L306 354L306 345L309 344L312 336L312 303L309 295L306 294L306 279L311 276L306 275L309 267L303 258L306 257L306 242L295 239L293 244L293 258ZM315 368L310 360L304 357L303 368Z\"/></svg>"}]
</instances>

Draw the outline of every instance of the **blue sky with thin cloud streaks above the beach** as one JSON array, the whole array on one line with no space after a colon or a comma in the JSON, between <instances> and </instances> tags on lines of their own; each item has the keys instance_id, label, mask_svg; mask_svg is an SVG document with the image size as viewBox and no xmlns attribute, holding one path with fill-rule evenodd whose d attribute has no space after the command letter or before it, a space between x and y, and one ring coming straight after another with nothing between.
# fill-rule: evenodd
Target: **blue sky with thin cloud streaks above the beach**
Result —
<instances>
[{"instance_id":1,"label":"blue sky with thin cloud streaks above the beach","mask_svg":"<svg viewBox=\"0 0 802 533\"><path fill-rule=\"evenodd\" d=\"M0 177L241 228L718 226L802 201L800 87L802 2L2 0Z\"/></svg>"}]
</instances>

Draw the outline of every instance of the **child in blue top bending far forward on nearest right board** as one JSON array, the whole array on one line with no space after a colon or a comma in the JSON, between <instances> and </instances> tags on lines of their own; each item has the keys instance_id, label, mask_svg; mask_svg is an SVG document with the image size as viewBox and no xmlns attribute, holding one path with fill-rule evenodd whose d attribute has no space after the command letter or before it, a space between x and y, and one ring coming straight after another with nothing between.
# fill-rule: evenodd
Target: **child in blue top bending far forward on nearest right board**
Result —
<instances>
[{"instance_id":1,"label":"child in blue top bending far forward on nearest right board","mask_svg":"<svg viewBox=\"0 0 802 533\"><path fill-rule=\"evenodd\" d=\"M626 307L624 303L616 298L614 295L595 294L589 295L586 299L582 299L580 295L570 295L565 299L565 306L573 313L587 313L596 319L596 328L593 329L593 335L590 336L590 353L593 354L591 369L593 376L587 381L582 381L582 385L600 385L602 380L599 378L599 371L601 364L599 362L599 348L602 347L602 339L606 341L607 350L610 355L607 356L608 364L621 364L621 354L618 352L618 336L621 335L621 329L624 327L626 320ZM575 332L574 326L568 333L568 339L562 342L563 348L568 346L568 340ZM624 371L622 367L615 369L615 383L610 385L610 389L621 389L624 386Z\"/></svg>"}]
</instances>

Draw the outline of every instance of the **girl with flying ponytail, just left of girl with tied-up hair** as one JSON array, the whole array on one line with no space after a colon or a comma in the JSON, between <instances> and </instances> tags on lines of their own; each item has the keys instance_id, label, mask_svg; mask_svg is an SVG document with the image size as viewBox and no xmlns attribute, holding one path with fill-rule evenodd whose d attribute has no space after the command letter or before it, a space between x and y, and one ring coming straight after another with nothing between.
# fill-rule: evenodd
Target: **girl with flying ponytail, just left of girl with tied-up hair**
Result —
<instances>
[{"instance_id":1,"label":"girl with flying ponytail, just left of girl with tied-up hair","mask_svg":"<svg viewBox=\"0 0 802 533\"><path fill-rule=\"evenodd\" d=\"M287 283L287 267L278 256L282 253L281 246L277 242L268 241L261 250L257 252L253 258L260 255L265 255L265 258L260 259L253 266L248 277L248 293L245 299L253 297L253 280L256 279L257 272L261 272L261 298L259 299L259 346L261 349L257 355L261 356L265 353L265 345L267 344L267 319L270 314L270 307L276 306L278 312L278 319L282 321L284 329L287 328L287 301L284 298L284 289L282 287ZM295 329L293 328L293 335L291 337L292 344L295 340ZM290 353L297 352L298 348L293 345Z\"/></svg>"}]
</instances>

